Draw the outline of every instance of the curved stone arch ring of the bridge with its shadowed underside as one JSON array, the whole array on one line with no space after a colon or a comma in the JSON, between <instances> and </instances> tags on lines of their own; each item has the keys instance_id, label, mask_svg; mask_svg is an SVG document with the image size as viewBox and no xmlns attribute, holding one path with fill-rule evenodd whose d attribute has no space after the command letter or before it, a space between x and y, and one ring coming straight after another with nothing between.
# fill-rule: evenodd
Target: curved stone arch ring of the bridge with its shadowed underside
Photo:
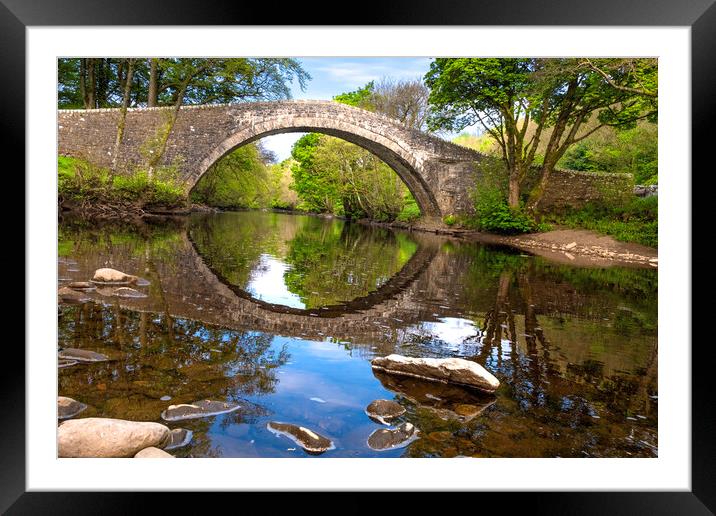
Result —
<instances>
[{"instance_id":1,"label":"curved stone arch ring of the bridge with its shadowed underside","mask_svg":"<svg viewBox=\"0 0 716 516\"><path fill-rule=\"evenodd\" d=\"M346 122L335 117L276 116L263 118L260 122L239 127L216 147L211 149L189 178L186 187L190 191L199 179L221 158L234 149L266 136L285 133L322 133L341 138L373 153L398 174L413 194L423 215L439 216L440 207L430 186L421 173L421 160L411 149L364 125Z\"/></svg>"}]
</instances>

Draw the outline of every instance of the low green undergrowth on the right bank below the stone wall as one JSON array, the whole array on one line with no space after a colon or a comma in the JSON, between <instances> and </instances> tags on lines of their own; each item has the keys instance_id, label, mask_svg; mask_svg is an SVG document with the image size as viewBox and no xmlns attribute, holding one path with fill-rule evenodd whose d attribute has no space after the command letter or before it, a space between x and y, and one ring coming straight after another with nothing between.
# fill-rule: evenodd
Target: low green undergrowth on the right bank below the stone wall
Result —
<instances>
[{"instance_id":1,"label":"low green undergrowth on the right bank below the stone wall","mask_svg":"<svg viewBox=\"0 0 716 516\"><path fill-rule=\"evenodd\" d=\"M634 197L626 204L588 204L564 214L546 215L548 221L590 229L623 242L658 247L658 196Z\"/></svg>"}]
</instances>

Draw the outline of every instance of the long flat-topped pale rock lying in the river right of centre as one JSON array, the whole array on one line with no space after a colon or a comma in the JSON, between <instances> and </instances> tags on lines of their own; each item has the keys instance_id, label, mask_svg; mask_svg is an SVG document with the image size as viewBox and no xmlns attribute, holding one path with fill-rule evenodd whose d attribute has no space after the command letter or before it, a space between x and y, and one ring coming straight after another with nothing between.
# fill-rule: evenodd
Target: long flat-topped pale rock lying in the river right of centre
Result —
<instances>
[{"instance_id":1,"label":"long flat-topped pale rock lying in the river right of centre","mask_svg":"<svg viewBox=\"0 0 716 516\"><path fill-rule=\"evenodd\" d=\"M499 380L480 364L462 358L413 358L393 354L374 358L371 365L386 373L467 385L486 392L495 392L500 386Z\"/></svg>"}]
</instances>

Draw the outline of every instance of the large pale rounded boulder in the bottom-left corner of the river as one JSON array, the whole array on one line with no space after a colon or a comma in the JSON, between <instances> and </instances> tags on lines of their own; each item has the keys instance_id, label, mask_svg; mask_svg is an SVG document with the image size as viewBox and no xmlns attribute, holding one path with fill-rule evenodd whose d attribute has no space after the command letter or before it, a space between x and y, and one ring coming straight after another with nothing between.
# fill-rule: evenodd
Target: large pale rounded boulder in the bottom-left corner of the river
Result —
<instances>
[{"instance_id":1,"label":"large pale rounded boulder in the bottom-left corner of the river","mask_svg":"<svg viewBox=\"0 0 716 516\"><path fill-rule=\"evenodd\" d=\"M57 429L60 457L133 457L145 448L163 448L169 428L159 423L102 417L70 419Z\"/></svg>"}]
</instances>

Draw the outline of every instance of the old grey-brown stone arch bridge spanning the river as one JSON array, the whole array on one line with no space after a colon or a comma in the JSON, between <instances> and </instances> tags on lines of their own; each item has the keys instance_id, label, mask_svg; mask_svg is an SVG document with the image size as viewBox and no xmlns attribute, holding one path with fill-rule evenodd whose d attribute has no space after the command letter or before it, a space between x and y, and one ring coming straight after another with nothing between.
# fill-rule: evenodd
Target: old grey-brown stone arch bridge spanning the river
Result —
<instances>
[{"instance_id":1,"label":"old grey-brown stone arch bridge spanning the river","mask_svg":"<svg viewBox=\"0 0 716 516\"><path fill-rule=\"evenodd\" d=\"M171 107L127 110L119 167L147 162L148 142L166 124ZM60 155L98 166L112 163L119 109L60 110ZM231 150L264 136L318 132L355 143L395 170L427 217L469 213L470 193L484 156L435 136L407 129L386 116L333 101L276 101L180 108L161 164L176 164L189 192Z\"/></svg>"}]
</instances>

